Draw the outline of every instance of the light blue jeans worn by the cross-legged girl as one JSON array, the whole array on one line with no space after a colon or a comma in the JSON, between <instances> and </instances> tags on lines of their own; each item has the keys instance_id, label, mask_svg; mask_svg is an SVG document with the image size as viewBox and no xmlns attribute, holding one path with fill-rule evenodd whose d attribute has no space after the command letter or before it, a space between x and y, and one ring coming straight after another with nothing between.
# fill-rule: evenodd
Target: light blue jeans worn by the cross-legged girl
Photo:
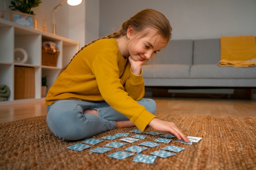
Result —
<instances>
[{"instance_id":1,"label":"light blue jeans worn by the cross-legged girl","mask_svg":"<svg viewBox=\"0 0 256 170\"><path fill-rule=\"evenodd\" d=\"M156 112L153 99L141 99L138 103L152 114ZM83 114L83 110L98 110L98 116ZM54 135L63 140L80 140L92 137L116 127L115 121L129 120L111 108L106 102L58 100L47 108L47 124Z\"/></svg>"}]
</instances>

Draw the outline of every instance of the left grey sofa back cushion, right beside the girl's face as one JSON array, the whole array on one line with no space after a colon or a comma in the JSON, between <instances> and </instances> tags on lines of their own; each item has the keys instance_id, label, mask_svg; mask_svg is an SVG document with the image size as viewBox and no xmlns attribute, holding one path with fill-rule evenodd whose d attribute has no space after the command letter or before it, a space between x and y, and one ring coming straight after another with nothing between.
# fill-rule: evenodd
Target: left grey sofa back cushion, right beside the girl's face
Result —
<instances>
[{"instance_id":1,"label":"left grey sofa back cushion, right beside the girl's face","mask_svg":"<svg viewBox=\"0 0 256 170\"><path fill-rule=\"evenodd\" d=\"M171 40L148 64L192 64L193 40Z\"/></svg>"}]
</instances>

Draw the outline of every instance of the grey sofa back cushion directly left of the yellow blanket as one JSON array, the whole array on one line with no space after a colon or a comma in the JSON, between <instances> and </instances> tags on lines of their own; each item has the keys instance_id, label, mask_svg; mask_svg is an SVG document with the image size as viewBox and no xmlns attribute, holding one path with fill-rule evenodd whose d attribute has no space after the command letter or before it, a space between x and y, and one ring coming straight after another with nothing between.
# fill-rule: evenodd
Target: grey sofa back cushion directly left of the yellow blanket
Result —
<instances>
[{"instance_id":1,"label":"grey sofa back cushion directly left of the yellow blanket","mask_svg":"<svg viewBox=\"0 0 256 170\"><path fill-rule=\"evenodd\" d=\"M220 39L194 40L193 64L218 64Z\"/></svg>"}]
</instances>

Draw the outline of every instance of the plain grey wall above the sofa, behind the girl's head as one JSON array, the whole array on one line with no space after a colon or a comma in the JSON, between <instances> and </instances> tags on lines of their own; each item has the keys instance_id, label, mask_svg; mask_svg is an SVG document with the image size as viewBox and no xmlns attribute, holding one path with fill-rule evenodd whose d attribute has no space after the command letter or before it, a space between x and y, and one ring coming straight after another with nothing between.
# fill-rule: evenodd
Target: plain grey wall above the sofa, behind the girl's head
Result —
<instances>
[{"instance_id":1,"label":"plain grey wall above the sofa, behind the girl's head","mask_svg":"<svg viewBox=\"0 0 256 170\"><path fill-rule=\"evenodd\" d=\"M146 8L166 15L173 40L256 35L256 0L100 0L99 35L118 30Z\"/></svg>"}]
</instances>

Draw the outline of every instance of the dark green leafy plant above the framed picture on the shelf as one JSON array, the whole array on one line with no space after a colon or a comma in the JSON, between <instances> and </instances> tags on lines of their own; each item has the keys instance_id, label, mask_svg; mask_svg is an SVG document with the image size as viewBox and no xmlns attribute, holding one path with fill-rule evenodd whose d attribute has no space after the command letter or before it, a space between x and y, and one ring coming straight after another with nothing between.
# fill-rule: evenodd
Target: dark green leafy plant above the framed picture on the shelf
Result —
<instances>
[{"instance_id":1,"label":"dark green leafy plant above the framed picture on the shelf","mask_svg":"<svg viewBox=\"0 0 256 170\"><path fill-rule=\"evenodd\" d=\"M14 0L11 1L9 8L34 15L34 11L31 11L31 8L38 7L40 3L42 3L42 0Z\"/></svg>"}]
</instances>

